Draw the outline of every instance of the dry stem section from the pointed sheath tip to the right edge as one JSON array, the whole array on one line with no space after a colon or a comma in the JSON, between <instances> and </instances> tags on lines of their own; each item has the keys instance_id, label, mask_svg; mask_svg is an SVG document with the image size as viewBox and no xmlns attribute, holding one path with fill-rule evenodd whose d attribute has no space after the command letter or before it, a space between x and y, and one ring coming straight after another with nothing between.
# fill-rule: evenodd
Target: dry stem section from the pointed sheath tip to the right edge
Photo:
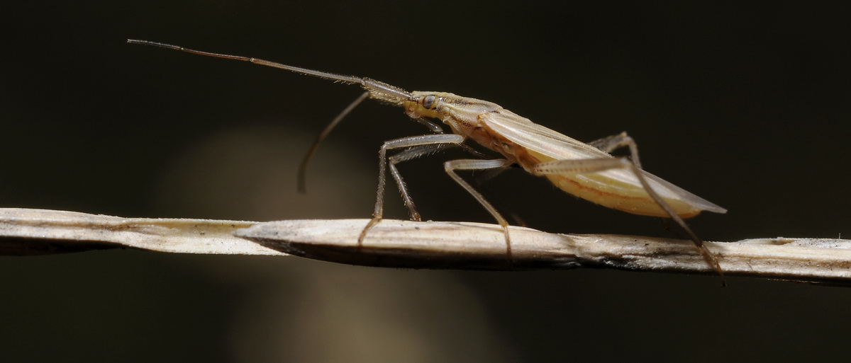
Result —
<instances>
[{"instance_id":1,"label":"dry stem section from the pointed sheath tip to the right edge","mask_svg":"<svg viewBox=\"0 0 851 363\"><path fill-rule=\"evenodd\" d=\"M714 275L688 240L568 235L511 226L512 265L505 265L501 226L482 223L382 221L360 253L367 220L276 221L237 232L288 254L352 265L461 270L575 267ZM705 242L727 276L851 285L851 240L761 238Z\"/></svg>"}]
</instances>

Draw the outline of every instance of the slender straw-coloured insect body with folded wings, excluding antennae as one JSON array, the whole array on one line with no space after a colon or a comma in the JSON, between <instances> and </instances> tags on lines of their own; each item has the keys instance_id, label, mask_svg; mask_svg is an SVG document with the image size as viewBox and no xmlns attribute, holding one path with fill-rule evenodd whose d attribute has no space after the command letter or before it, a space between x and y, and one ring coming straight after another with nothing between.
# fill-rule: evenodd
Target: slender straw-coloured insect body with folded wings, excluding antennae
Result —
<instances>
[{"instance_id":1,"label":"slender straw-coloured insect body with folded wings, excluding antennae","mask_svg":"<svg viewBox=\"0 0 851 363\"><path fill-rule=\"evenodd\" d=\"M534 175L546 176L558 188L577 197L636 215L671 217L661 204L667 204L673 214L682 218L703 210L726 212L647 171L632 170L624 164L628 160L614 158L601 148L534 124L496 103L451 93L412 92L412 95L420 101L406 102L408 116L439 118L455 134L503 154L507 161L516 162ZM612 140L616 144L632 142L623 133L596 143L612 143ZM608 151L611 149L614 148ZM637 151L633 155L637 160ZM636 169L640 170L640 166L636 165ZM664 203L654 200L641 179Z\"/></svg>"}]
</instances>

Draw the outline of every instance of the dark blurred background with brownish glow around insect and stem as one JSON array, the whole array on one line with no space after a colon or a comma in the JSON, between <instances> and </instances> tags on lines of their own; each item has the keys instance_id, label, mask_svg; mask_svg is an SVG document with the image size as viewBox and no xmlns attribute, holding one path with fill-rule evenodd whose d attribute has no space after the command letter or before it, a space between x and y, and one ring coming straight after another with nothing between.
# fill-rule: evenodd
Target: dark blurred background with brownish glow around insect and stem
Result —
<instances>
[{"instance_id":1,"label":"dark blurred background with brownish glow around insect and stem","mask_svg":"<svg viewBox=\"0 0 851 363\"><path fill-rule=\"evenodd\" d=\"M678 3L168 1L7 5L0 205L134 217L368 218L380 143L422 134L283 70L500 103L729 209L703 238L851 237L847 8ZM425 218L491 221L440 154L401 166ZM388 217L405 218L390 192ZM511 170L503 210L547 232L667 236ZM0 258L3 361L848 359L851 290L622 271L397 271L113 250Z\"/></svg>"}]
</instances>

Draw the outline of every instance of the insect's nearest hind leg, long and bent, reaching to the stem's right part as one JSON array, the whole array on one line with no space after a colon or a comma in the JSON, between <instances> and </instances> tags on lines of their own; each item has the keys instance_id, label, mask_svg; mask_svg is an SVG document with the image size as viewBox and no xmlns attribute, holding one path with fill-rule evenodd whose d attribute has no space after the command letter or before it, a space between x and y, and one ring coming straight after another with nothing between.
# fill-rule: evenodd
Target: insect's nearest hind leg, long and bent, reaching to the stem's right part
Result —
<instances>
[{"instance_id":1,"label":"insect's nearest hind leg, long and bent, reaching to the stem's right part","mask_svg":"<svg viewBox=\"0 0 851 363\"><path fill-rule=\"evenodd\" d=\"M661 209L665 210L665 213L671 217L671 220L677 223L678 226L682 227L683 230L688 234L688 237L691 238L694 245L700 249L700 254L703 256L704 260L713 268L715 271L718 271L718 275L721 276L721 284L722 286L726 285L724 281L724 272L721 269L721 265L718 263L717 258L714 254L712 254L709 249L706 249L705 244L697 237L691 228L686 225L683 218L677 215L677 212L668 205L664 199L662 199L656 191L653 190L653 187L650 187L650 184L647 181L647 177L643 175L641 169L638 168L633 162L626 158L604 158L604 159L570 159L570 160L555 160L555 161L547 161L545 163L540 163L535 165L532 172L535 175L545 175L545 174L563 174L563 173L576 173L576 174L584 174L584 173L595 173L605 170L611 169L629 169L632 171L638 181L641 182L644 191L648 193L648 196L653 199L653 201L660 206Z\"/></svg>"}]
</instances>

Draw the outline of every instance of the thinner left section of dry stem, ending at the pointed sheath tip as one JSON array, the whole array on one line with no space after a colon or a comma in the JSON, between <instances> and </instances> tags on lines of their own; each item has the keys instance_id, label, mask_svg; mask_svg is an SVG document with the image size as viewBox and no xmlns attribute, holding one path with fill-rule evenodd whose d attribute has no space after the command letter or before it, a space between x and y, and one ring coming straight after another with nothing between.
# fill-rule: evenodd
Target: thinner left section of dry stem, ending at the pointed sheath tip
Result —
<instances>
[{"instance_id":1,"label":"thinner left section of dry stem, ending at the pointed sheath tip","mask_svg":"<svg viewBox=\"0 0 851 363\"><path fill-rule=\"evenodd\" d=\"M180 254L276 254L233 232L256 222L122 218L46 209L0 209L0 254L131 248Z\"/></svg>"}]
</instances>

